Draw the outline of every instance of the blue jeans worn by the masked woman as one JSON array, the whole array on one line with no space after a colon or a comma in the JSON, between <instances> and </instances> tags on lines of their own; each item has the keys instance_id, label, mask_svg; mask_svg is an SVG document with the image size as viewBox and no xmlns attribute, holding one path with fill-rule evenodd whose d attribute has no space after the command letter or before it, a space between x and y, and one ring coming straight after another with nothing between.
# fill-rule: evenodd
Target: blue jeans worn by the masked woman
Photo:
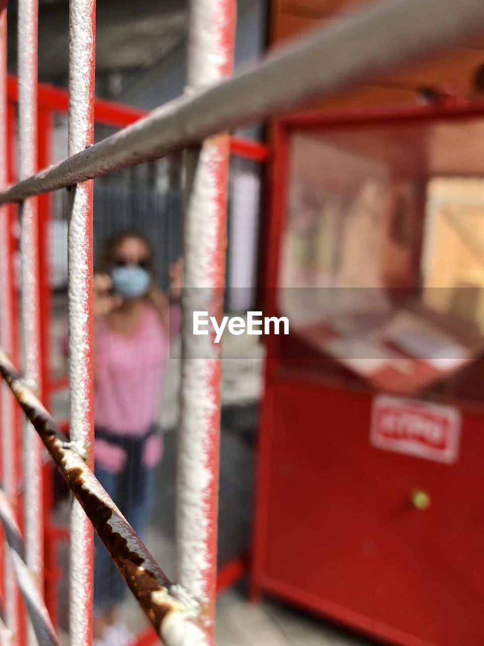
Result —
<instances>
[{"instance_id":1,"label":"blue jeans worn by the masked woman","mask_svg":"<svg viewBox=\"0 0 484 646\"><path fill-rule=\"evenodd\" d=\"M94 472L121 513L126 517L138 536L145 532L153 509L156 467L147 468L140 459L140 448L127 450L127 462L120 473L111 473L100 464ZM142 446L142 443L138 441ZM94 612L99 614L116 607L123 601L127 585L114 565L100 537L94 536Z\"/></svg>"}]
</instances>

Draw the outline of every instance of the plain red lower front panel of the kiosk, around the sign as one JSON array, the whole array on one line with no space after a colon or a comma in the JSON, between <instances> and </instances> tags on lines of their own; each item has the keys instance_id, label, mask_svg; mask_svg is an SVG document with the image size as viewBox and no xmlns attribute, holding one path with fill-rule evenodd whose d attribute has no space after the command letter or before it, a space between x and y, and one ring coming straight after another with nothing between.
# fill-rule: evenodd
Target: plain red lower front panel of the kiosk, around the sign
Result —
<instances>
[{"instance_id":1,"label":"plain red lower front panel of the kiosk, around the sign","mask_svg":"<svg viewBox=\"0 0 484 646\"><path fill-rule=\"evenodd\" d=\"M371 393L288 379L275 396L259 583L394 643L481 644L482 417L464 414L449 466L372 446Z\"/></svg>"}]
</instances>

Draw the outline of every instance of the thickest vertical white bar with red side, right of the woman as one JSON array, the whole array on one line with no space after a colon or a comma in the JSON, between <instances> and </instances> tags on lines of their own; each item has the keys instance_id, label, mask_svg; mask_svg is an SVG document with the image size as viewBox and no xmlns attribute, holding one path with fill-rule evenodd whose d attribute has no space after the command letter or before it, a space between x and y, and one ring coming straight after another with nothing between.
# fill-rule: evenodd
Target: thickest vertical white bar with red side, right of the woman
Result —
<instances>
[{"instance_id":1,"label":"thickest vertical white bar with red side, right of the woman","mask_svg":"<svg viewBox=\"0 0 484 646\"><path fill-rule=\"evenodd\" d=\"M229 76L233 67L235 0L192 0L187 93ZM177 579L213 626L216 592L220 346L193 334L193 311L220 318L226 270L229 135L186 153L182 382L176 502Z\"/></svg>"}]
</instances>

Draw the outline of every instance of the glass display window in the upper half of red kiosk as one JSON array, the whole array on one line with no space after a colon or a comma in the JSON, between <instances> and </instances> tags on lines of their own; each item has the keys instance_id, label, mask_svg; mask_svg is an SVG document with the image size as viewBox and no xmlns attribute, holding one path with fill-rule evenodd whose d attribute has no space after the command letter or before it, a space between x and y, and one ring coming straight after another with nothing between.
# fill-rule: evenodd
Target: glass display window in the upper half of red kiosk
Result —
<instances>
[{"instance_id":1,"label":"glass display window in the upper half of red kiosk","mask_svg":"<svg viewBox=\"0 0 484 646\"><path fill-rule=\"evenodd\" d=\"M483 140L483 120L289 131L283 360L484 399Z\"/></svg>"}]
</instances>

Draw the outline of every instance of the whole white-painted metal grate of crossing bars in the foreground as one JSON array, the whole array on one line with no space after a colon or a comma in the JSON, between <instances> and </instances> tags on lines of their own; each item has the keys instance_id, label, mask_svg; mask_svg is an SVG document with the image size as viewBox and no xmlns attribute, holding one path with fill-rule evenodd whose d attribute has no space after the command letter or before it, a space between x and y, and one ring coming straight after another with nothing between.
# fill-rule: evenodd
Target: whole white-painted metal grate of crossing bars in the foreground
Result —
<instances>
[{"instance_id":1,"label":"whole white-painted metal grate of crossing bars in the foreground","mask_svg":"<svg viewBox=\"0 0 484 646\"><path fill-rule=\"evenodd\" d=\"M0 182L5 186L6 3L1 3ZM189 26L189 87L177 101L155 110L92 145L94 120L94 0L70 0L68 158L36 173L37 1L19 0L19 182L0 193L0 371L30 422L23 437L25 548L15 522L12 464L14 409L2 390L3 494L6 536L6 627L21 634L17 575L28 615L29 643L57 643L42 599L43 526L41 441L76 496L70 533L70 638L87 645L92 633L92 526L127 585L168 646L212 643L215 606L216 512L220 427L220 355L209 337L183 331L182 410L178 453L178 581L171 583L92 473L92 179L156 160L185 155L185 311L222 311L229 130L299 107L308 99L383 72L402 61L448 45L484 19L481 0L393 0L330 30L317 32L269 56L251 70L231 73L235 0L193 0ZM39 361L37 198L68 189L68 294L70 320L70 441L43 408ZM21 377L7 354L14 348L12 211L21 222ZM200 348L200 340L206 344ZM205 353L204 353L205 351ZM204 355L206 359L200 359ZM12 357L16 360L18 357ZM34 431L35 428L35 431ZM13 451L12 451L13 453ZM80 505L79 505L80 503Z\"/></svg>"}]
</instances>

